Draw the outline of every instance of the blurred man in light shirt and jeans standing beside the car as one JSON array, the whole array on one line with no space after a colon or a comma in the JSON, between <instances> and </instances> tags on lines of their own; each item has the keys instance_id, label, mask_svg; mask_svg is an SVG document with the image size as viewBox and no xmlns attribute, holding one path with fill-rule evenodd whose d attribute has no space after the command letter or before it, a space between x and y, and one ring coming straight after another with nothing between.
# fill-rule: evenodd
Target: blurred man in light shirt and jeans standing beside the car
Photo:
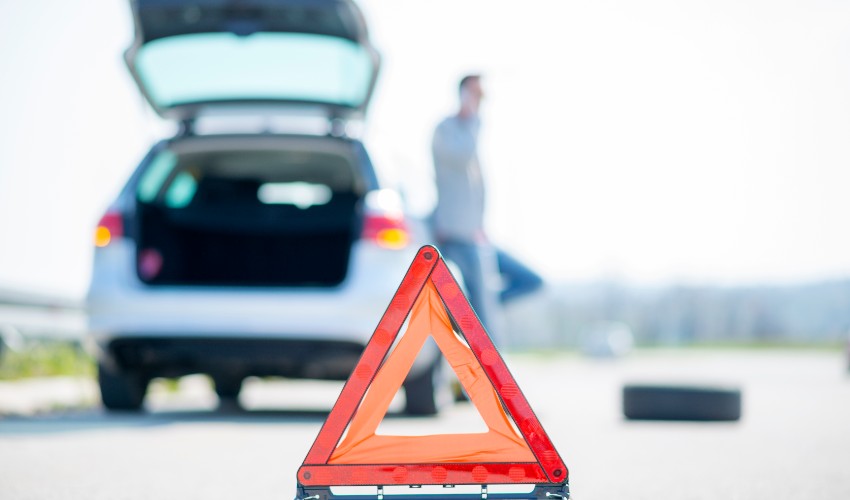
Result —
<instances>
[{"instance_id":1,"label":"blurred man in light shirt and jeans standing beside the car","mask_svg":"<svg viewBox=\"0 0 850 500\"><path fill-rule=\"evenodd\" d=\"M437 181L434 236L461 270L469 301L495 344L499 333L499 269L484 234L484 178L478 159L480 75L460 81L458 112L437 125L431 144Z\"/></svg>"}]
</instances>

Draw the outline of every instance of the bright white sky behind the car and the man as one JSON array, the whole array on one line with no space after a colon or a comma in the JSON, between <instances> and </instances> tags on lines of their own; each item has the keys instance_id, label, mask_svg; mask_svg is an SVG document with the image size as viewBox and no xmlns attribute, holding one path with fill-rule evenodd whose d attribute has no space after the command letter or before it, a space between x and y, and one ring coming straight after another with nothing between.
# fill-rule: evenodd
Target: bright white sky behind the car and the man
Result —
<instances>
[{"instance_id":1,"label":"bright white sky behind the car and the man","mask_svg":"<svg viewBox=\"0 0 850 500\"><path fill-rule=\"evenodd\" d=\"M850 276L850 3L363 0L370 137L415 207L456 82L486 74L492 239L553 280ZM123 1L0 2L0 287L79 296L91 230L168 131Z\"/></svg>"}]
</instances>

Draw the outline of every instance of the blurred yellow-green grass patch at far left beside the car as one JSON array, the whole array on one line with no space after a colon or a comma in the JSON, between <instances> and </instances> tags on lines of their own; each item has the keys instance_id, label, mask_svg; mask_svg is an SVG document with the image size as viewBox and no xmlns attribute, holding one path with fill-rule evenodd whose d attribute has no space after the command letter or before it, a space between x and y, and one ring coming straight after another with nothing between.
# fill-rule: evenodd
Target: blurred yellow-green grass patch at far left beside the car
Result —
<instances>
[{"instance_id":1,"label":"blurred yellow-green grass patch at far left beside the car","mask_svg":"<svg viewBox=\"0 0 850 500\"><path fill-rule=\"evenodd\" d=\"M94 359L77 342L30 341L19 349L0 352L0 380L96 375Z\"/></svg>"}]
</instances>

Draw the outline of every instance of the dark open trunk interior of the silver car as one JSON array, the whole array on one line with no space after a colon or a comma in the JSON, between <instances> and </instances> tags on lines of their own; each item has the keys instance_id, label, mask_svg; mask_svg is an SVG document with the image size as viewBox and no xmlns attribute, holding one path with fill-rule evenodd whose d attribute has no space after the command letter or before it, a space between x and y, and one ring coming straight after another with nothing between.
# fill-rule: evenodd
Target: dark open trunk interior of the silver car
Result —
<instances>
[{"instance_id":1,"label":"dark open trunk interior of the silver car","mask_svg":"<svg viewBox=\"0 0 850 500\"><path fill-rule=\"evenodd\" d=\"M330 287L345 279L362 224L362 196L349 159L286 150L175 158L168 175L158 174L165 180L153 199L137 202L142 281ZM269 186L282 187L284 196L263 199ZM317 189L324 193L320 199L298 201Z\"/></svg>"}]
</instances>

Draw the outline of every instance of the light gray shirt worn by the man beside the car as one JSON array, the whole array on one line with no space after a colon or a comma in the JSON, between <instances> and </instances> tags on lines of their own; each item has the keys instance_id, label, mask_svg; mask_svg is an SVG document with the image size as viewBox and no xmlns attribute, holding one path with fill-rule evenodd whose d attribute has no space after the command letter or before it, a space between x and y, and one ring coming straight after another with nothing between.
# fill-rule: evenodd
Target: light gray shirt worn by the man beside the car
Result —
<instances>
[{"instance_id":1,"label":"light gray shirt worn by the man beside the car","mask_svg":"<svg viewBox=\"0 0 850 500\"><path fill-rule=\"evenodd\" d=\"M431 143L437 181L434 231L438 239L472 242L484 230L484 179L478 160L477 116L450 116Z\"/></svg>"}]
</instances>

